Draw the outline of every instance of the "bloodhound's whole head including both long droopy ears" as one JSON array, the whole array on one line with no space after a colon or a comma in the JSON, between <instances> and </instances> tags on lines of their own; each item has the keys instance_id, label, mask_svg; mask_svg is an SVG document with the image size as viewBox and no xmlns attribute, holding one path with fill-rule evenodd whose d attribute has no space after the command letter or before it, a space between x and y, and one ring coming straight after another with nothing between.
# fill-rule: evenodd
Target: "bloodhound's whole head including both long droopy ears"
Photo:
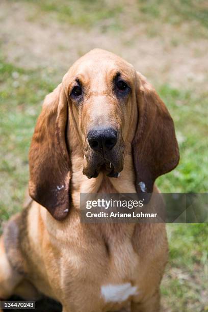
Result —
<instances>
[{"instance_id":1,"label":"bloodhound's whole head including both long droopy ears","mask_svg":"<svg viewBox=\"0 0 208 312\"><path fill-rule=\"evenodd\" d=\"M92 50L46 96L30 149L30 195L59 220L69 211L69 129L88 178L100 171L117 178L131 144L138 193L151 193L179 160L172 118L145 77L114 54Z\"/></svg>"}]
</instances>

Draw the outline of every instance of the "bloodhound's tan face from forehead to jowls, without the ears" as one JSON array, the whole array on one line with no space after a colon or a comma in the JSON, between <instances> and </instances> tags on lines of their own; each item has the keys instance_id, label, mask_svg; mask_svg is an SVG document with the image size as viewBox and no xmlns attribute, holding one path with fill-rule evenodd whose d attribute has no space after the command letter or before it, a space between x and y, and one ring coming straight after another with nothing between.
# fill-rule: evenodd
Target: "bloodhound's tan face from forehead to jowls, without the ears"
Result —
<instances>
[{"instance_id":1,"label":"bloodhound's tan face from forehead to jowls, without the ears","mask_svg":"<svg viewBox=\"0 0 208 312\"><path fill-rule=\"evenodd\" d=\"M135 70L106 51L92 56L76 62L66 77L71 114L83 143L83 174L92 178L103 171L118 177L136 123Z\"/></svg>"}]
</instances>

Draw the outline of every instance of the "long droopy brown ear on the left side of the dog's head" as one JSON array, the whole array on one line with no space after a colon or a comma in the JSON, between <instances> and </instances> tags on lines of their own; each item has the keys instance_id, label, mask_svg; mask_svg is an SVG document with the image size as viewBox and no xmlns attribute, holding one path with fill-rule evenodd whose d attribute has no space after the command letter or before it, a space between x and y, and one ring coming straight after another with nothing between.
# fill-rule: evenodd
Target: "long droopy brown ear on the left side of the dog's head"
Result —
<instances>
[{"instance_id":1,"label":"long droopy brown ear on the left side of the dog's head","mask_svg":"<svg viewBox=\"0 0 208 312\"><path fill-rule=\"evenodd\" d=\"M70 159L65 132L68 103L60 84L44 100L29 153L30 196L57 220L69 212Z\"/></svg>"}]
</instances>

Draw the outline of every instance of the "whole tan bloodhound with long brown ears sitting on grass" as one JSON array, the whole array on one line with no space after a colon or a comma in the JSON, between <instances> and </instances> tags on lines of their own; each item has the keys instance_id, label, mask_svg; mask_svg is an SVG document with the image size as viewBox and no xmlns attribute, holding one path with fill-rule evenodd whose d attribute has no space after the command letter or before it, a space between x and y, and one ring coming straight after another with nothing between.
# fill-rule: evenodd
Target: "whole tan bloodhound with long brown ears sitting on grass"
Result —
<instances>
[{"instance_id":1,"label":"whole tan bloodhound with long brown ears sitting on grass","mask_svg":"<svg viewBox=\"0 0 208 312\"><path fill-rule=\"evenodd\" d=\"M80 193L158 192L179 160L174 125L145 77L93 49L44 100L32 138L30 205L6 225L0 297L44 294L64 312L160 310L164 224L81 222Z\"/></svg>"}]
</instances>

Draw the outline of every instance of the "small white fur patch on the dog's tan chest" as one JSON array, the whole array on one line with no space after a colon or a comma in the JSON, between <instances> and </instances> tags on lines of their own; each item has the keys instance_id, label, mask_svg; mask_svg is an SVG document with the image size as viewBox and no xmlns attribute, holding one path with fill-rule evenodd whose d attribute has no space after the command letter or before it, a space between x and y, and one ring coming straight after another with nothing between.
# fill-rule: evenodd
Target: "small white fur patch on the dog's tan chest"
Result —
<instances>
[{"instance_id":1,"label":"small white fur patch on the dog's tan chest","mask_svg":"<svg viewBox=\"0 0 208 312\"><path fill-rule=\"evenodd\" d=\"M128 299L129 296L136 295L137 287L132 286L131 283L120 285L104 285L101 287L102 297L106 302L120 302Z\"/></svg>"}]
</instances>

